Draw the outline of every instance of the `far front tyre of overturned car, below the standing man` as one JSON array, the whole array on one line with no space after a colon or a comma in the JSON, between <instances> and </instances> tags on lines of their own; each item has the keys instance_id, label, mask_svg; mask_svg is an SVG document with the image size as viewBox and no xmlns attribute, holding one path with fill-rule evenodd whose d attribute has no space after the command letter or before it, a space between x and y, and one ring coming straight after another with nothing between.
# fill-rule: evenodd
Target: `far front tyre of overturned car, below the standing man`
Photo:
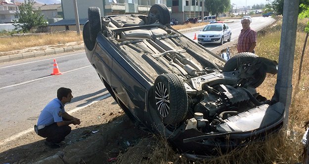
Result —
<instances>
[{"instance_id":1,"label":"far front tyre of overturned car, below the standing man","mask_svg":"<svg viewBox=\"0 0 309 164\"><path fill-rule=\"evenodd\" d=\"M246 66L250 66L257 57L258 57L257 55L250 53L250 52L238 53L225 63L222 70L224 72L229 72L233 70L241 70ZM265 80L265 77L266 77L266 72L256 71L254 73L255 80L253 83L251 83L251 85L255 88L259 87Z\"/></svg>"}]
</instances>

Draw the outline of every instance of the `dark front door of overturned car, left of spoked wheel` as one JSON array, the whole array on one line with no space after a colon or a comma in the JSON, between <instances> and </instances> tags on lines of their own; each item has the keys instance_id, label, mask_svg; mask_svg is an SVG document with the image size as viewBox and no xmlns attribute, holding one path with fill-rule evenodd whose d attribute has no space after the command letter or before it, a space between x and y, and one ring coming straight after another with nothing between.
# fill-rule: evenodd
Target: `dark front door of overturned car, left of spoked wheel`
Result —
<instances>
[{"instance_id":1,"label":"dark front door of overturned car, left of spoked wheel","mask_svg":"<svg viewBox=\"0 0 309 164\"><path fill-rule=\"evenodd\" d=\"M142 77L140 72L130 60L120 53L113 56L111 70L111 88L116 97L130 110L135 120L144 118L145 101L147 94L145 85L150 84Z\"/></svg>"}]
</instances>

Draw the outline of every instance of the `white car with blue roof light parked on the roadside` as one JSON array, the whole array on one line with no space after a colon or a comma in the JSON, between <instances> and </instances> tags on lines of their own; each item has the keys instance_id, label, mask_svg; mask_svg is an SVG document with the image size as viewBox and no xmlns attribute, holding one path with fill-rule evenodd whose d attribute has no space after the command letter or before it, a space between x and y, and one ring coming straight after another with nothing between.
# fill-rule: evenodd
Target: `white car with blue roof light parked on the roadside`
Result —
<instances>
[{"instance_id":1,"label":"white car with blue roof light parked on the roadside","mask_svg":"<svg viewBox=\"0 0 309 164\"><path fill-rule=\"evenodd\" d=\"M220 43L221 45L225 40L231 41L231 29L225 23L208 24L198 34L197 42L204 43Z\"/></svg>"}]
</instances>

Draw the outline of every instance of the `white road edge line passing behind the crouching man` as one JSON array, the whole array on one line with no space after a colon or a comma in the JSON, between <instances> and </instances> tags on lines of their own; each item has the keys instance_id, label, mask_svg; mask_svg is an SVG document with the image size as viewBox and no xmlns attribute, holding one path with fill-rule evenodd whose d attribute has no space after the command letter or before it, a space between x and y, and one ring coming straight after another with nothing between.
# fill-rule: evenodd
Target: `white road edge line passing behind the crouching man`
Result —
<instances>
[{"instance_id":1,"label":"white road edge line passing behind the crouching man","mask_svg":"<svg viewBox=\"0 0 309 164\"><path fill-rule=\"evenodd\" d=\"M76 111L78 111L78 110L81 110L81 109L83 109L83 108L86 108L87 106L89 106L89 105L91 105L91 104L93 104L93 103L95 103L95 102L97 102L97 101L99 101L99 100L108 98L108 97L110 97L110 96L111 96L111 95L108 93L108 94L106 94L106 95L104 95L104 96L102 96L102 97L96 98L95 100L89 102L88 104L86 104L86 105L84 105L84 106L81 106L81 107L77 107L77 108L75 108L75 109L72 109L72 110L68 111L67 113L72 114L72 113L74 113L74 112L76 112ZM9 141L11 141L11 140L14 140L14 139L16 139L16 138L18 138L18 137L20 137L20 136L22 136L22 135L24 135L24 134L27 134L28 132L31 132L31 131L34 131L34 128L29 128L29 129L27 129L26 131L22 131L22 132L19 132L19 133L15 134L15 135L12 135L12 136L10 136L10 137L4 139L3 141L1 141L1 142L0 142L0 145L3 145L3 144L5 144L6 142L9 142Z\"/></svg>"}]
</instances>

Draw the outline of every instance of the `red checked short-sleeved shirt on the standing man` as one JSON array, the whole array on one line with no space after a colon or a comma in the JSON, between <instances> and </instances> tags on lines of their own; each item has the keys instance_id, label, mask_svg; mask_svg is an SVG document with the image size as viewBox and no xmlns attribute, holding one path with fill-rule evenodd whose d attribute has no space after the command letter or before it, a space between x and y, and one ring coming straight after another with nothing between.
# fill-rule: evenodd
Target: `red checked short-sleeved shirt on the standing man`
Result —
<instances>
[{"instance_id":1,"label":"red checked short-sleeved shirt on the standing man","mask_svg":"<svg viewBox=\"0 0 309 164\"><path fill-rule=\"evenodd\" d=\"M237 43L238 53L240 52L248 52L252 43L257 42L257 32L252 30L251 28L244 30L242 29Z\"/></svg>"}]
</instances>

